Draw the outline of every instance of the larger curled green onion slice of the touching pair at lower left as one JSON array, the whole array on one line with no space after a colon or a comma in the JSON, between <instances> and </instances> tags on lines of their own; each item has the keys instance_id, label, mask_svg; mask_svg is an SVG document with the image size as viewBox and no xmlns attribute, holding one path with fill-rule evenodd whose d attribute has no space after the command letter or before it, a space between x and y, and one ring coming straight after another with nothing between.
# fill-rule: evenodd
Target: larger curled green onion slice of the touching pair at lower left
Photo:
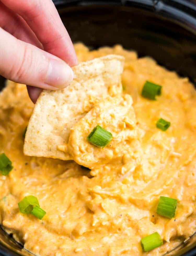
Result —
<instances>
[{"instance_id":1,"label":"larger curled green onion slice of the touching pair at lower left","mask_svg":"<svg viewBox=\"0 0 196 256\"><path fill-rule=\"evenodd\" d=\"M39 202L35 196L25 196L18 206L21 213L31 213L35 206L39 207Z\"/></svg>"}]
</instances>

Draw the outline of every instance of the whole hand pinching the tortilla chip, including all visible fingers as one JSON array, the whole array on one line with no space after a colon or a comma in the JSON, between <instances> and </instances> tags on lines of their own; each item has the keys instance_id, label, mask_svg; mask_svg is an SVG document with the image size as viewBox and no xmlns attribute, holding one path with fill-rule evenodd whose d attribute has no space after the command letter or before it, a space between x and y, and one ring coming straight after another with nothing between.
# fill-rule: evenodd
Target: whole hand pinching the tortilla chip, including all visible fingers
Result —
<instances>
[{"instance_id":1,"label":"whole hand pinching the tortilla chip, including all visible fingers","mask_svg":"<svg viewBox=\"0 0 196 256\"><path fill-rule=\"evenodd\" d=\"M0 0L0 74L31 85L27 90L34 103L41 88L69 85L70 66L76 64L72 41L51 0Z\"/></svg>"}]
</instances>

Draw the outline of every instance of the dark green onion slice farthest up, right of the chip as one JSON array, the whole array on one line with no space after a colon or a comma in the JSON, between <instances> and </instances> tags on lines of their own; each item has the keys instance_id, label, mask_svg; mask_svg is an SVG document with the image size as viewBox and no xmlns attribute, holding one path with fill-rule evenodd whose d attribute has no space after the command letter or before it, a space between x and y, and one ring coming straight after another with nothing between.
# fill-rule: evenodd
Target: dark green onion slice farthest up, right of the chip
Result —
<instances>
[{"instance_id":1,"label":"dark green onion slice farthest up, right of the chip","mask_svg":"<svg viewBox=\"0 0 196 256\"><path fill-rule=\"evenodd\" d=\"M146 81L142 89L142 97L156 100L155 96L161 94L162 86Z\"/></svg>"}]
</instances>

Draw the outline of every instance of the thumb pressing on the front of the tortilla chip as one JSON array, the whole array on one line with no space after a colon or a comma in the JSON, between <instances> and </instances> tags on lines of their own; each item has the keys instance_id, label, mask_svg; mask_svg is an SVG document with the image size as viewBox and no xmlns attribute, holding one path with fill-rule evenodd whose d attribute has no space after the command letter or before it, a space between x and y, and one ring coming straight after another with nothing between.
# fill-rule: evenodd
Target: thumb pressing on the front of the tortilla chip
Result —
<instances>
[{"instance_id":1,"label":"thumb pressing on the front of the tortilla chip","mask_svg":"<svg viewBox=\"0 0 196 256\"><path fill-rule=\"evenodd\" d=\"M56 90L69 85L73 71L64 61L0 28L0 74L17 83Z\"/></svg>"}]
</instances>

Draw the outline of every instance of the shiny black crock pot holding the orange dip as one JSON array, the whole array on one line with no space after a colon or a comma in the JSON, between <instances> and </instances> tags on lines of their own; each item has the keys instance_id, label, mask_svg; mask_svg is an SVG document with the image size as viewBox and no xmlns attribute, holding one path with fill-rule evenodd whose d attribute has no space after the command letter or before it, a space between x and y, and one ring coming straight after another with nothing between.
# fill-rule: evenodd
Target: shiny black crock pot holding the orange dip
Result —
<instances>
[{"instance_id":1,"label":"shiny black crock pot holding the orange dip","mask_svg":"<svg viewBox=\"0 0 196 256\"><path fill-rule=\"evenodd\" d=\"M122 44L196 86L196 0L54 0L73 42ZM0 77L0 90L5 79ZM33 239L33 237L32 237ZM0 256L30 255L0 228ZM196 234L167 255L196 255Z\"/></svg>"}]
</instances>

